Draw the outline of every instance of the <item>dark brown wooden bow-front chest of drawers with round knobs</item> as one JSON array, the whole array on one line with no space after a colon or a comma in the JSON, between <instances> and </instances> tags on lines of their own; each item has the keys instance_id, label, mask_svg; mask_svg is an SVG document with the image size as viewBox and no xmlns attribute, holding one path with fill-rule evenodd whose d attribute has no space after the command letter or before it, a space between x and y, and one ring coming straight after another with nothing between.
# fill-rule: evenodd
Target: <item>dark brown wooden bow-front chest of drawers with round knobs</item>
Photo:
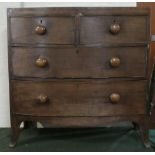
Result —
<instances>
[{"instance_id":1,"label":"dark brown wooden bow-front chest of drawers with round knobs","mask_svg":"<svg viewBox=\"0 0 155 155\"><path fill-rule=\"evenodd\" d=\"M10 146L25 121L131 121L148 144L149 37L148 9L8 9Z\"/></svg>"}]
</instances>

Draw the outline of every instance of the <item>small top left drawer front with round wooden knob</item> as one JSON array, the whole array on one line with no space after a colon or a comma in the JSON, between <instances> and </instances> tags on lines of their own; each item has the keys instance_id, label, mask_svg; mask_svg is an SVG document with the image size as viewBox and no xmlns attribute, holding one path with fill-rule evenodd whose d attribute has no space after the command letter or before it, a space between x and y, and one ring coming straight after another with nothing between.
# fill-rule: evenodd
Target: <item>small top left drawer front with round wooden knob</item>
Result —
<instances>
[{"instance_id":1,"label":"small top left drawer front with round wooden knob","mask_svg":"<svg viewBox=\"0 0 155 155\"><path fill-rule=\"evenodd\" d=\"M11 42L23 44L73 44L74 18L11 18Z\"/></svg>"}]
</instances>

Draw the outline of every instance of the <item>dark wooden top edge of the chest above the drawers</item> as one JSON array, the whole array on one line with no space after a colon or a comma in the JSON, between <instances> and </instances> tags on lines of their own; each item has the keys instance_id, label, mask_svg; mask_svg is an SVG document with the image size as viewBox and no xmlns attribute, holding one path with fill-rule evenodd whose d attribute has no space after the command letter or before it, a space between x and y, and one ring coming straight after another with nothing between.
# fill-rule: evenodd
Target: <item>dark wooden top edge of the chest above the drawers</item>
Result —
<instances>
[{"instance_id":1,"label":"dark wooden top edge of the chest above the drawers","mask_svg":"<svg viewBox=\"0 0 155 155\"><path fill-rule=\"evenodd\" d=\"M107 15L107 16L141 16L149 14L148 8L134 8L134 7L50 7L50 8L9 8L8 16L9 17L36 17L36 16L75 16L81 13L82 15Z\"/></svg>"}]
</instances>

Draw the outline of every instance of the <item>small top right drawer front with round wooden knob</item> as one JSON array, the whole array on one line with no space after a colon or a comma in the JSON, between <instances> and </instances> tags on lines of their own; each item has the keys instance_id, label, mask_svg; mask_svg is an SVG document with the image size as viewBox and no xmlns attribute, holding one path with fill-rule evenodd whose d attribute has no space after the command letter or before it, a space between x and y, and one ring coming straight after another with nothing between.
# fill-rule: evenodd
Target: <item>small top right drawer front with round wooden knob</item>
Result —
<instances>
[{"instance_id":1,"label":"small top right drawer front with round wooden knob","mask_svg":"<svg viewBox=\"0 0 155 155\"><path fill-rule=\"evenodd\" d=\"M84 16L80 43L143 43L148 40L147 28L146 16Z\"/></svg>"}]
</instances>

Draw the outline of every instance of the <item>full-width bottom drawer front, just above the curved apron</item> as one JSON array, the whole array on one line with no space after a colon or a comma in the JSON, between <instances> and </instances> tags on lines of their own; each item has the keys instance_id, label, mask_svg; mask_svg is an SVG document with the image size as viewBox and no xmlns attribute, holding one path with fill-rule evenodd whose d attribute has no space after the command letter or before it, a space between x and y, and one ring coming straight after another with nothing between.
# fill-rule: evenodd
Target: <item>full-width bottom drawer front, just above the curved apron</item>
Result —
<instances>
[{"instance_id":1,"label":"full-width bottom drawer front, just above the curved apron","mask_svg":"<svg viewBox=\"0 0 155 155\"><path fill-rule=\"evenodd\" d=\"M144 114L146 81L12 81L13 111L39 116Z\"/></svg>"}]
</instances>

